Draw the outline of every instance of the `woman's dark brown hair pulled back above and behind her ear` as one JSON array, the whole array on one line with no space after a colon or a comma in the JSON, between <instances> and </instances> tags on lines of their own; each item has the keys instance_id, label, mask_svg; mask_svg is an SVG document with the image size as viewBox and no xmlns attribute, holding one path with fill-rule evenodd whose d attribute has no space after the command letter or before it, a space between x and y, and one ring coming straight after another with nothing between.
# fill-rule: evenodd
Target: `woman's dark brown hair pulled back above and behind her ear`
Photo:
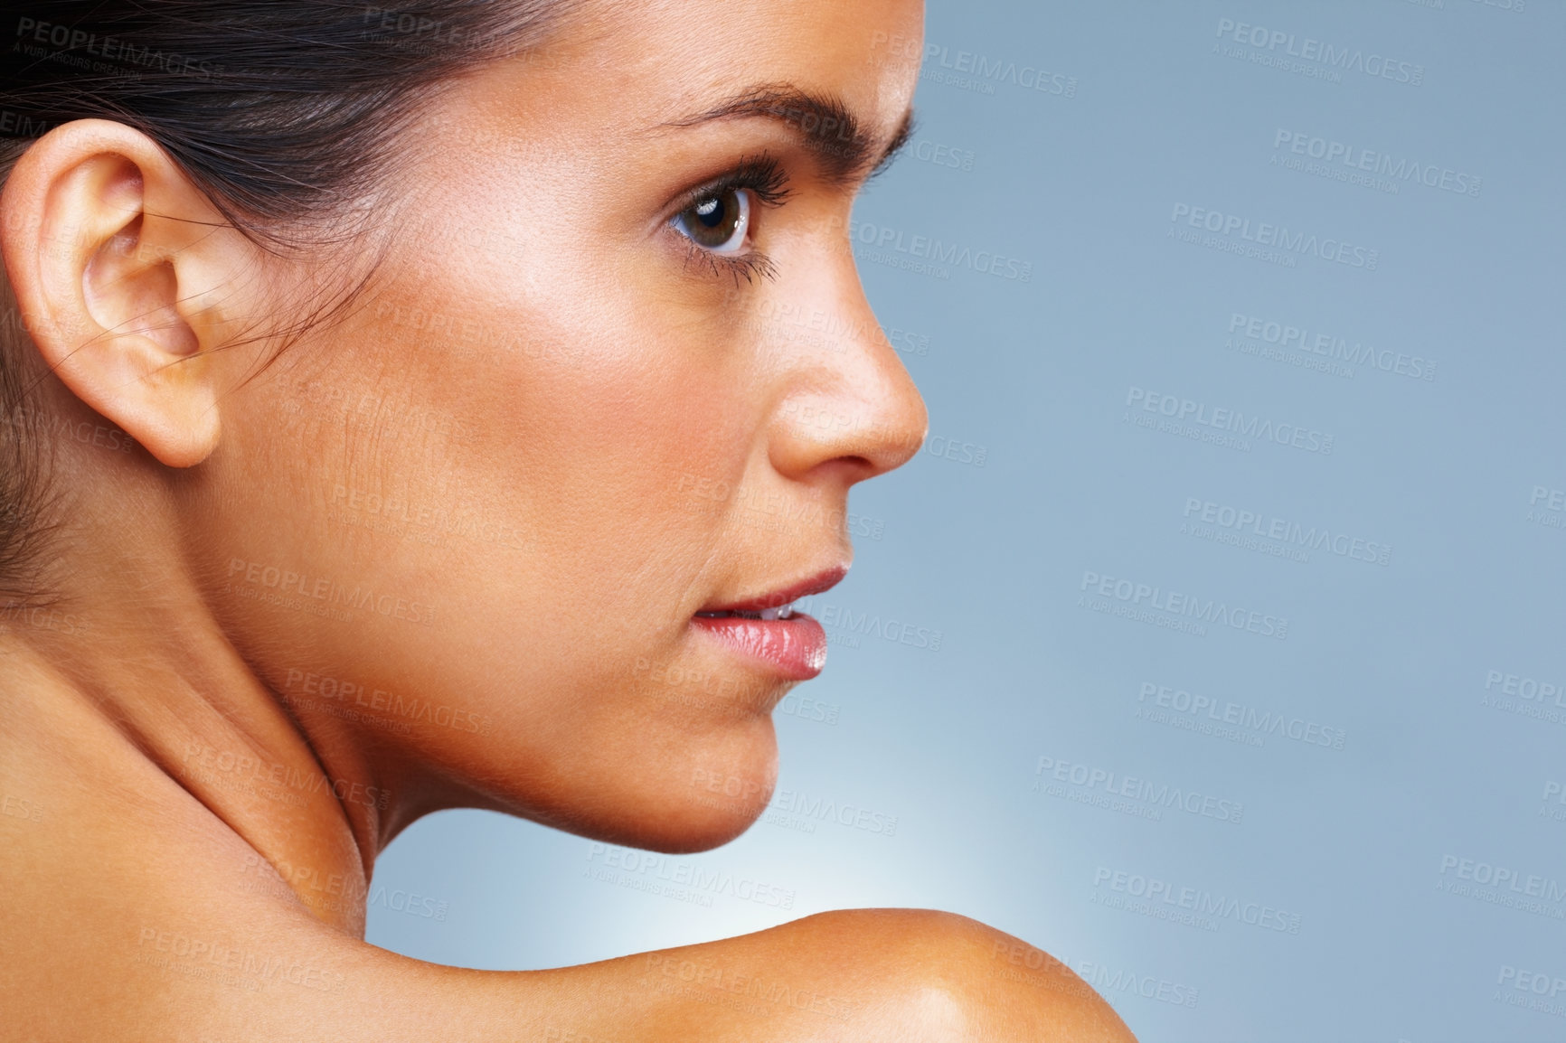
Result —
<instances>
[{"instance_id":1,"label":"woman's dark brown hair pulled back above and behind her ear","mask_svg":"<svg viewBox=\"0 0 1566 1043\"><path fill-rule=\"evenodd\" d=\"M5 3L0 183L74 119L141 130L269 251L354 243L407 157L398 135L464 70L536 56L581 0L49 0ZM362 288L363 282L359 283ZM357 288L355 288L357 290ZM307 309L298 335L349 304ZM276 330L272 330L276 335ZM287 343L287 341L285 341ZM58 432L28 396L22 316L0 326L0 598L42 603Z\"/></svg>"}]
</instances>

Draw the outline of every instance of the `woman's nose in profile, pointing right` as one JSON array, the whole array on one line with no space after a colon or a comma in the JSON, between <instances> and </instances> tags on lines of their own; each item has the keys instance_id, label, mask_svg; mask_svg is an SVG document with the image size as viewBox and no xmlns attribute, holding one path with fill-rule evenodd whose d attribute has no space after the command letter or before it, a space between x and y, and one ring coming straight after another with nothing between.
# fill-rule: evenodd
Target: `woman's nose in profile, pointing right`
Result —
<instances>
[{"instance_id":1,"label":"woman's nose in profile, pointing right","mask_svg":"<svg viewBox=\"0 0 1566 1043\"><path fill-rule=\"evenodd\" d=\"M791 355L767 448L785 478L830 471L852 485L907 464L924 445L929 413L871 310L847 236L825 254L792 287L794 313L825 335Z\"/></svg>"}]
</instances>

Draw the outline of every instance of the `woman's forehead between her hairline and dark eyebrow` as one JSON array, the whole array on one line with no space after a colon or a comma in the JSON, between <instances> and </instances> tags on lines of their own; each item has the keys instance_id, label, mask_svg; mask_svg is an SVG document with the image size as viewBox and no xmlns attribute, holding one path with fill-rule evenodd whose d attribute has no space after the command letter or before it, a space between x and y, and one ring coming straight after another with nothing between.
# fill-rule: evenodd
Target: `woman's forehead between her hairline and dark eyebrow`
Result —
<instances>
[{"instance_id":1,"label":"woman's forehead between her hairline and dark eyebrow","mask_svg":"<svg viewBox=\"0 0 1566 1043\"><path fill-rule=\"evenodd\" d=\"M695 128L714 106L789 85L839 100L885 143L913 99L922 20L922 0L594 2L540 52L487 69L484 94L564 144L590 127L625 139Z\"/></svg>"}]
</instances>

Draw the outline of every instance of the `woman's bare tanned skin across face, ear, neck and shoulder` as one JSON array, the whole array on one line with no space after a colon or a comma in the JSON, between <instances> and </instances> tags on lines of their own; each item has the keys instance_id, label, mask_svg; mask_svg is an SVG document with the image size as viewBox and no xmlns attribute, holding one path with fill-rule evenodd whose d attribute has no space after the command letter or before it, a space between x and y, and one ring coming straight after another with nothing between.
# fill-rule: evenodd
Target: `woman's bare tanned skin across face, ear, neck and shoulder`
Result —
<instances>
[{"instance_id":1,"label":"woman's bare tanned skin across face, ear, neck and shoulder","mask_svg":"<svg viewBox=\"0 0 1566 1043\"><path fill-rule=\"evenodd\" d=\"M1045 954L922 910L531 973L363 943L377 852L440 808L739 835L791 683L691 619L846 565L849 487L926 432L847 240L921 3L589 13L431 96L351 251L260 249L122 124L14 166L0 304L63 498L55 605L0 609L0 1038L1132 1038ZM838 99L864 155L700 117L778 85ZM670 218L760 153L788 197L745 277ZM363 277L279 354L279 316Z\"/></svg>"}]
</instances>

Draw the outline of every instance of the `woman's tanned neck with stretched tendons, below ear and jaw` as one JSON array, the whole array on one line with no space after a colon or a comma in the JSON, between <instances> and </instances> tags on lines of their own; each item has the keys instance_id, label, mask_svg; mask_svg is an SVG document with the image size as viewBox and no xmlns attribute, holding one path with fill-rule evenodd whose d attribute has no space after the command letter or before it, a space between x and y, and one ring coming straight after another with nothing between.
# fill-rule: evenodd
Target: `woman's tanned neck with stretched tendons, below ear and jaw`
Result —
<instances>
[{"instance_id":1,"label":"woman's tanned neck with stretched tendons, below ear and jaw","mask_svg":"<svg viewBox=\"0 0 1566 1043\"><path fill-rule=\"evenodd\" d=\"M52 576L47 608L0 608L0 719L16 724L0 731L27 750L0 760L41 786L130 780L130 800L194 799L254 849L266 886L362 938L399 780L379 778L346 730L307 733L257 677L182 567L157 496L114 501L135 517L72 507L53 548L70 575ZM127 528L164 537L130 553Z\"/></svg>"}]
</instances>

